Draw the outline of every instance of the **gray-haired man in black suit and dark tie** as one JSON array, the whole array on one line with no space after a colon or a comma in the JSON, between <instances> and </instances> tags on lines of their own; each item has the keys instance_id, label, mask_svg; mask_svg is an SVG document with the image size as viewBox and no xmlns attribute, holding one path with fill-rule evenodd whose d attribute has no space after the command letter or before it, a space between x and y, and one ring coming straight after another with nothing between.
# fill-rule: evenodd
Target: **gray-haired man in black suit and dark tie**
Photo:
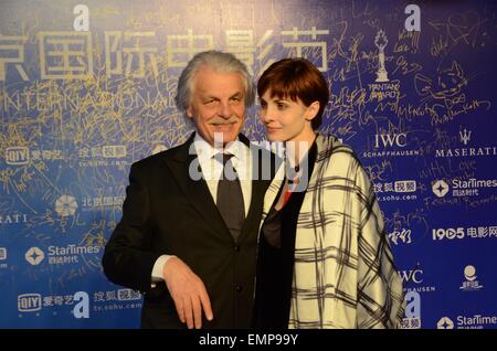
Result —
<instances>
[{"instance_id":1,"label":"gray-haired man in black suit and dark tie","mask_svg":"<svg viewBox=\"0 0 497 351\"><path fill-rule=\"evenodd\" d=\"M110 281L145 294L142 328L251 326L257 232L271 181L261 164L272 159L240 134L253 102L242 62L218 51L197 54L176 98L195 132L131 166L103 266Z\"/></svg>"}]
</instances>

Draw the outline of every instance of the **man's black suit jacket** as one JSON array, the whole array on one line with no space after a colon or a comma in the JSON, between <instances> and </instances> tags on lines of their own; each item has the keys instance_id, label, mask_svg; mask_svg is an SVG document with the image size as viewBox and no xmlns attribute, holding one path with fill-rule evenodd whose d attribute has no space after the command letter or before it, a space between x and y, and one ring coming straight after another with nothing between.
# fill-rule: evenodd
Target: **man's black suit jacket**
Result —
<instances>
[{"instance_id":1,"label":"man's black suit jacket","mask_svg":"<svg viewBox=\"0 0 497 351\"><path fill-rule=\"evenodd\" d=\"M248 143L242 135L240 140ZM214 319L204 319L202 326L248 328L257 232L271 179L253 181L252 203L235 243L205 181L194 181L189 176L197 157L189 155L192 141L193 135L183 145L131 166L123 219L105 247L104 273L110 281L145 294L142 328L184 328L166 285L160 283L154 289L150 286L157 258L176 255L205 285ZM260 149L256 153L260 164L261 159L267 158L274 164L271 152Z\"/></svg>"}]
</instances>

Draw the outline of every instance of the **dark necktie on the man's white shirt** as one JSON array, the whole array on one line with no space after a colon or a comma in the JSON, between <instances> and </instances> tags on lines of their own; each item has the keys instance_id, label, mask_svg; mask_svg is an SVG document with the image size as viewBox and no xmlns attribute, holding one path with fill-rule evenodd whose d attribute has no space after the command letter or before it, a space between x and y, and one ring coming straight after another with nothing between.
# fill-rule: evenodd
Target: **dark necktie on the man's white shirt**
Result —
<instances>
[{"instance_id":1,"label":"dark necktie on the man's white shirt","mask_svg":"<svg viewBox=\"0 0 497 351\"><path fill-rule=\"evenodd\" d=\"M223 163L223 173L218 183L218 210L236 243L245 221L245 205L239 176L233 168L233 155L218 153L215 159ZM235 177L233 177L235 176ZM233 179L234 178L234 179Z\"/></svg>"}]
</instances>

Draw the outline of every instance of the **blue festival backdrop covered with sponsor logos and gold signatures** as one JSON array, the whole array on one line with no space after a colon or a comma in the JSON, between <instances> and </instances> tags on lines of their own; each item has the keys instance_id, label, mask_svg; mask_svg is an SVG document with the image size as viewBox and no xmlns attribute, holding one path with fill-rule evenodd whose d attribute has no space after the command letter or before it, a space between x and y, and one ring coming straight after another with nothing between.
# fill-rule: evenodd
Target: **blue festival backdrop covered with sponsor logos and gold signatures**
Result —
<instances>
[{"instance_id":1,"label":"blue festival backdrop covered with sponsor logos and gold signatures","mask_svg":"<svg viewBox=\"0 0 497 351\"><path fill-rule=\"evenodd\" d=\"M402 328L497 328L497 6L488 1L0 2L0 327L136 328L105 243L133 162L187 140L198 52L256 79L310 60L321 131L356 150L405 285ZM264 140L255 106L244 132Z\"/></svg>"}]
</instances>

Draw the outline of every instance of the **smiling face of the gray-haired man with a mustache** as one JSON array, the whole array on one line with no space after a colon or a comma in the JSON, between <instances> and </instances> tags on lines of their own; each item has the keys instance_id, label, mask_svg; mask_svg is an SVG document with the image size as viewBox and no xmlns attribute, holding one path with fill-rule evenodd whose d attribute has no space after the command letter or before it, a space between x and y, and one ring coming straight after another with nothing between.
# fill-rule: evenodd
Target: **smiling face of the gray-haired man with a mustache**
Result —
<instances>
[{"instance_id":1,"label":"smiling face of the gray-haired man with a mustache","mask_svg":"<svg viewBox=\"0 0 497 351\"><path fill-rule=\"evenodd\" d=\"M204 66L193 78L193 95L187 116L200 136L214 146L214 134L223 143L234 141L245 119L245 89L239 73L218 73Z\"/></svg>"}]
</instances>

